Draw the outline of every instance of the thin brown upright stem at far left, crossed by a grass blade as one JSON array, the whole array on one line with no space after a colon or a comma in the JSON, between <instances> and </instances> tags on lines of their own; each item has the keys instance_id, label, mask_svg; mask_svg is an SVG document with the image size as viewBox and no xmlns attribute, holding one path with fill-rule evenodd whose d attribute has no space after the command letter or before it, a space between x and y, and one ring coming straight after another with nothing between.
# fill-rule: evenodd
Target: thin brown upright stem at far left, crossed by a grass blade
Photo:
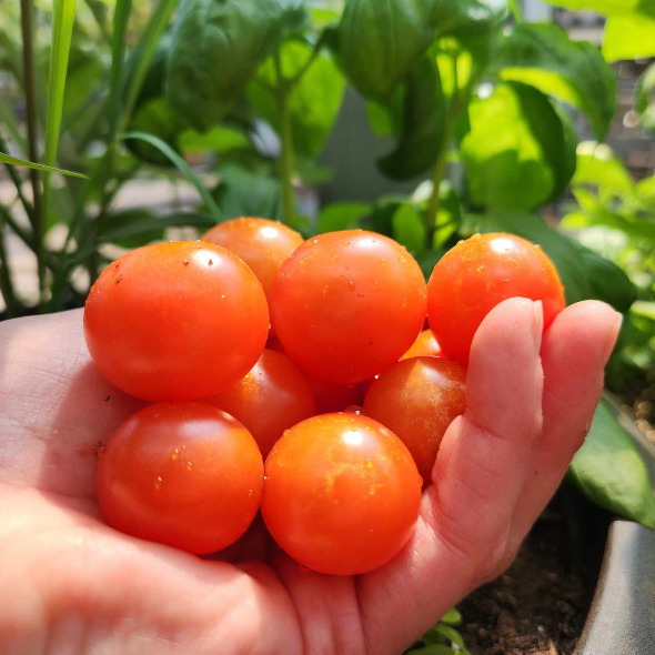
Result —
<instances>
[{"instance_id":1,"label":"thin brown upright stem at far left, crossed by a grass blade","mask_svg":"<svg viewBox=\"0 0 655 655\"><path fill-rule=\"evenodd\" d=\"M23 75L28 119L28 157L30 161L39 161L39 131L37 123L37 98L34 93L34 49L32 42L32 3L30 0L21 0L20 17L23 42ZM46 280L46 263L43 251L43 213L41 203L41 187L39 171L30 169L32 184L33 213L30 215L32 232L37 252L37 268L39 272L39 296L42 296ZM29 215L29 212L28 212Z\"/></svg>"}]
</instances>

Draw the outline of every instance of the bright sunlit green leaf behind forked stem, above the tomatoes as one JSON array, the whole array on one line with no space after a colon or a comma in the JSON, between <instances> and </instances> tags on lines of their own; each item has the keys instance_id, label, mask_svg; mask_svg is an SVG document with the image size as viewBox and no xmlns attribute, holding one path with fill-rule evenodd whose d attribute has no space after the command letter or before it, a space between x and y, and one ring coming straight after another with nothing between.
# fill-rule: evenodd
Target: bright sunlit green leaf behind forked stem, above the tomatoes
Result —
<instances>
[{"instance_id":1,"label":"bright sunlit green leaf behind forked stem, above the tomatoes","mask_svg":"<svg viewBox=\"0 0 655 655\"><path fill-rule=\"evenodd\" d=\"M302 77L288 97L288 111L294 151L308 158L318 157L332 131L345 89L343 75L332 59L320 52L309 68L313 48L300 41L286 41L280 48L280 60L285 77ZM280 133L280 118L273 89L275 67L269 59L248 88L248 97L260 113Z\"/></svg>"}]
</instances>

